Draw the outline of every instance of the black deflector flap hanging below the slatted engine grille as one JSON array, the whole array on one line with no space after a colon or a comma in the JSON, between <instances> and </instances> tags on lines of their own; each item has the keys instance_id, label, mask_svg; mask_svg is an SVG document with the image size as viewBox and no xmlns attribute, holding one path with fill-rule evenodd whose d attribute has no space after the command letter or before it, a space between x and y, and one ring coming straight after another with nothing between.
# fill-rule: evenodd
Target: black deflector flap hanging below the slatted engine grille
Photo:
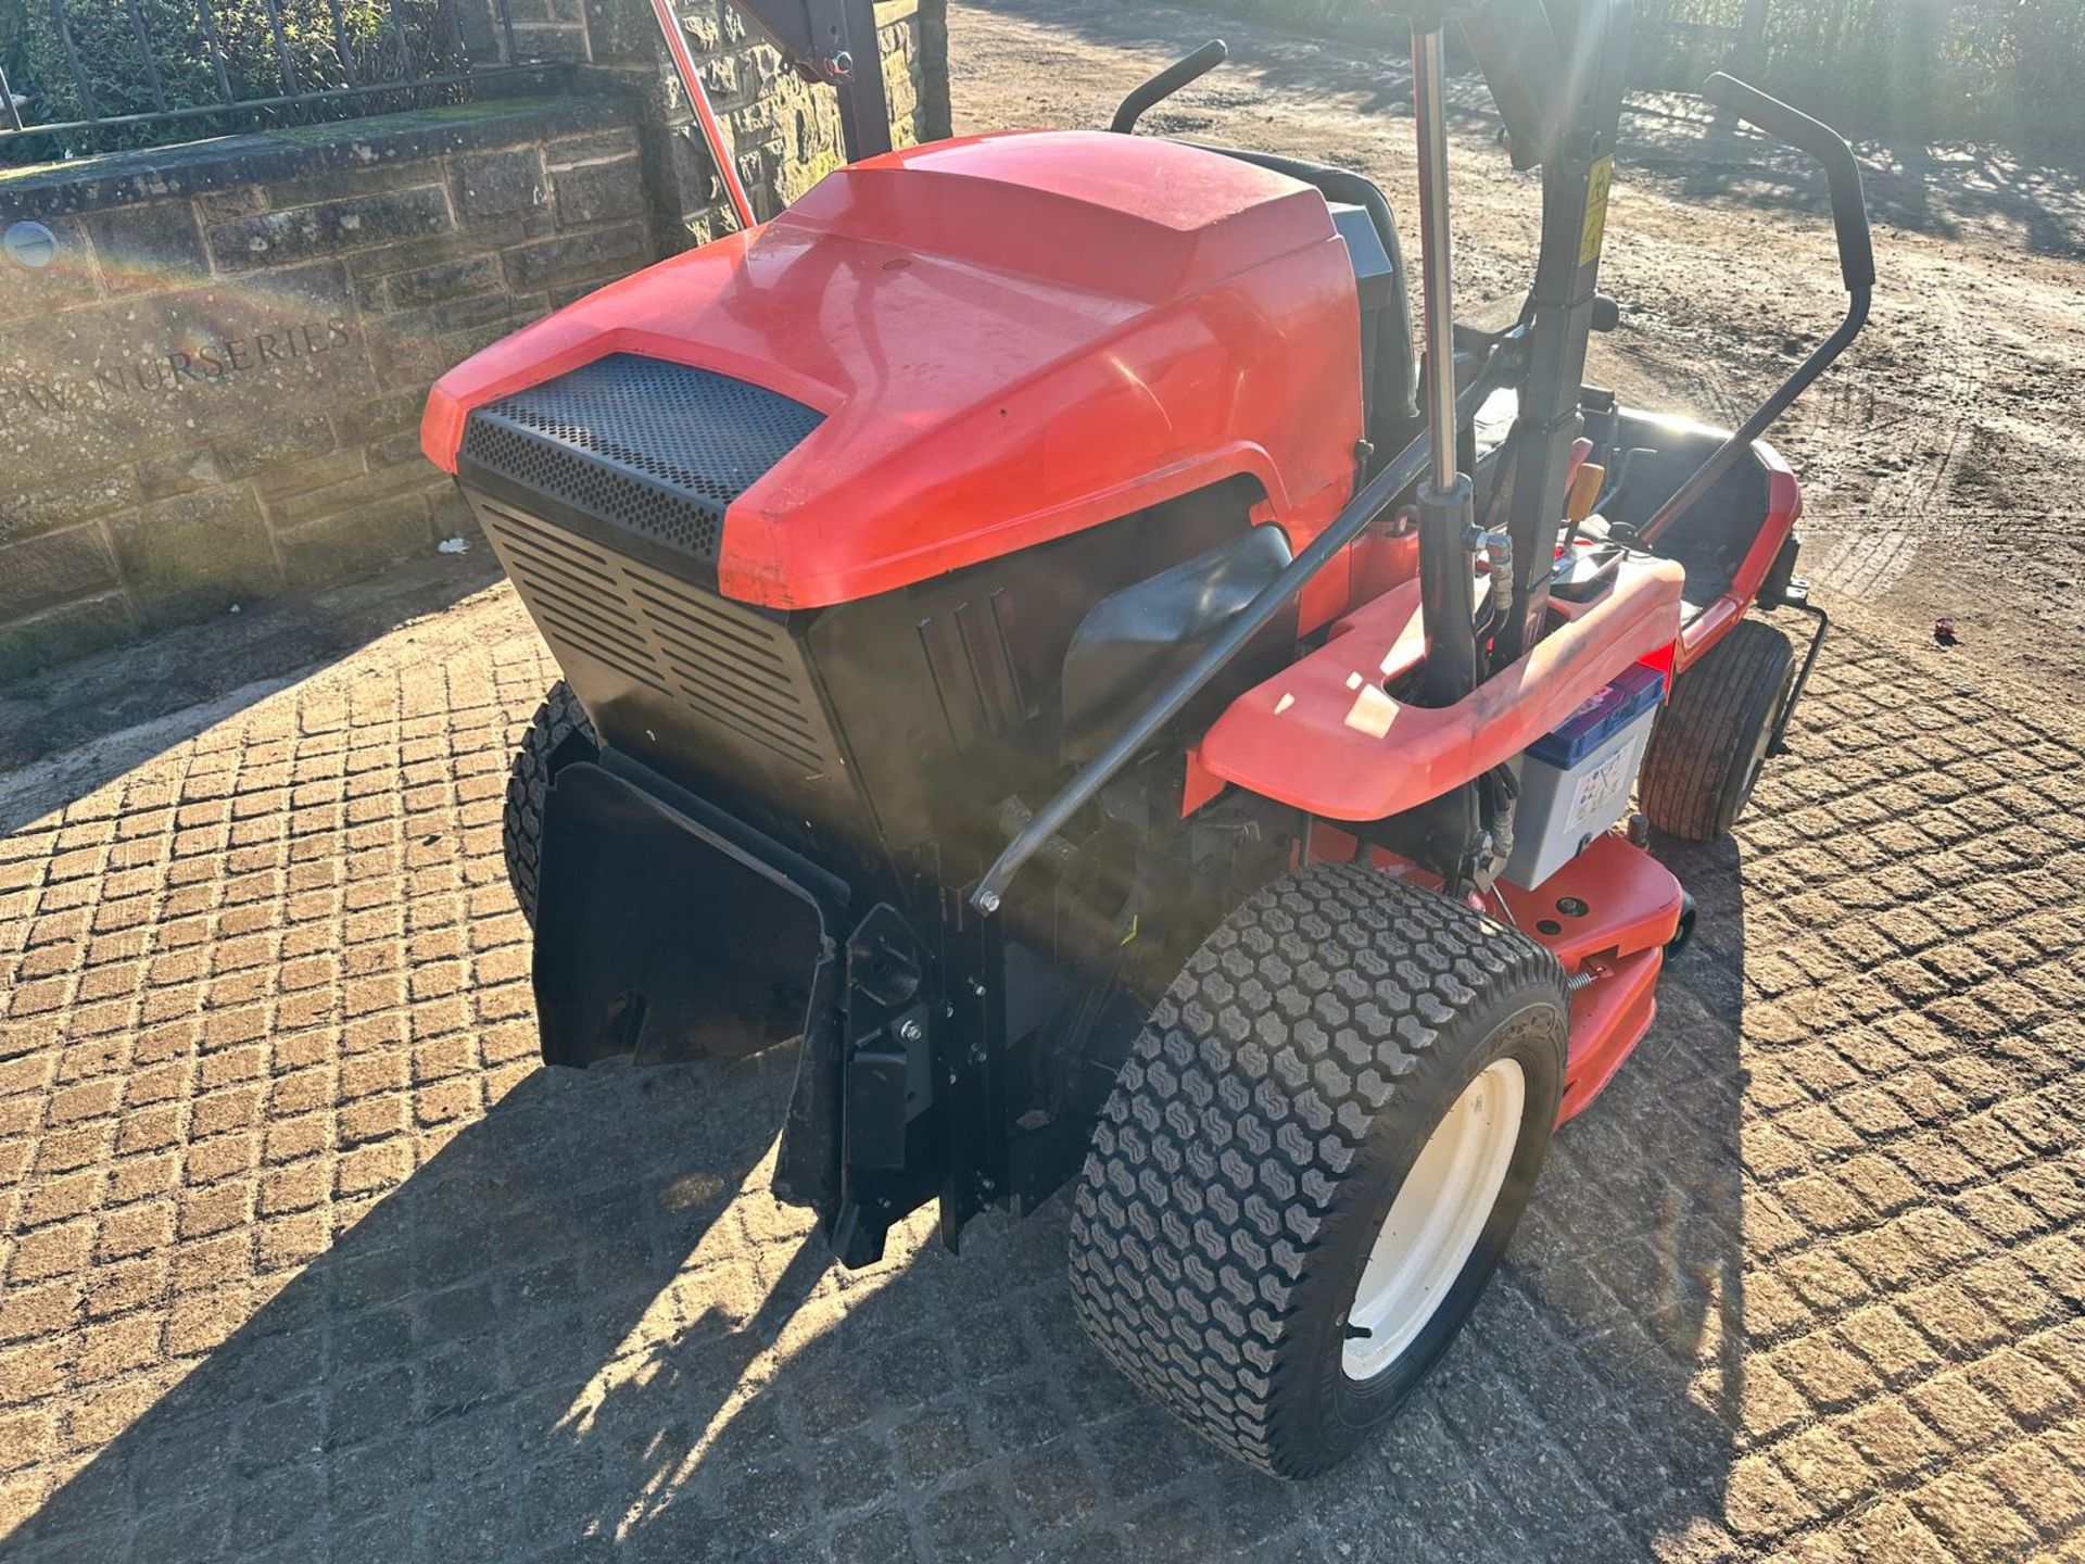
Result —
<instances>
[{"instance_id":1,"label":"black deflector flap hanging below the slatted engine grille","mask_svg":"<svg viewBox=\"0 0 2085 1564\"><path fill-rule=\"evenodd\" d=\"M949 1155L932 1116L932 961L897 909L857 915L851 895L603 751L550 788L534 980L546 1064L732 1059L801 1036L774 1189L863 1266L942 1187Z\"/></svg>"}]
</instances>

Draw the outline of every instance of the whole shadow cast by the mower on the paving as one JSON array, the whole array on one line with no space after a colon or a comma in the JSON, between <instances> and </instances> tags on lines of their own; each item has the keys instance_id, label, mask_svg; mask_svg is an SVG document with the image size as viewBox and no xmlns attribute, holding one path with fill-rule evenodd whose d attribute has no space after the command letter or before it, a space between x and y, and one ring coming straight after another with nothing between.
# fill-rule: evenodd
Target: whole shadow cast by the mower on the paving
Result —
<instances>
[{"instance_id":1,"label":"whole shadow cast by the mower on the paving","mask_svg":"<svg viewBox=\"0 0 2085 1564\"><path fill-rule=\"evenodd\" d=\"M859 1274L765 1191L794 1066L528 1076L81 1468L56 1558L1641 1558L1739 1401L1735 849L1389 1435L1253 1476L1080 1337L1063 1205ZM1720 1535L1720 1531L1718 1531ZM1343 1551L1345 1549L1345 1551Z\"/></svg>"}]
</instances>

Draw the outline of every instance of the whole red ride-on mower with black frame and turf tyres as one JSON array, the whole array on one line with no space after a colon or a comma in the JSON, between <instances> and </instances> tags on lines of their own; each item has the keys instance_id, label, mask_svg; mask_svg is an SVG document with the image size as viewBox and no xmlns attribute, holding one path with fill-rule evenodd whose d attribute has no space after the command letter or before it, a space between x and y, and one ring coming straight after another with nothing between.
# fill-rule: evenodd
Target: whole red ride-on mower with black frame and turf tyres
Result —
<instances>
[{"instance_id":1,"label":"whole red ride-on mower with black frame and turf tyres","mask_svg":"<svg viewBox=\"0 0 2085 1564\"><path fill-rule=\"evenodd\" d=\"M740 4L855 161L423 425L565 669L507 809L544 1059L801 1036L776 1193L842 1264L1072 1182L1101 1349L1322 1470L1651 1022L1691 918L1647 826L1726 830L1804 684L1747 611L1816 657L1758 436L1866 315L1851 152L1708 83L1822 158L1851 290L1724 434L1583 384L1628 0L1455 15L1541 169L1503 332L1451 321L1418 19L1418 340L1368 179L1128 133L1222 44L1111 131L892 152L867 0Z\"/></svg>"}]
</instances>

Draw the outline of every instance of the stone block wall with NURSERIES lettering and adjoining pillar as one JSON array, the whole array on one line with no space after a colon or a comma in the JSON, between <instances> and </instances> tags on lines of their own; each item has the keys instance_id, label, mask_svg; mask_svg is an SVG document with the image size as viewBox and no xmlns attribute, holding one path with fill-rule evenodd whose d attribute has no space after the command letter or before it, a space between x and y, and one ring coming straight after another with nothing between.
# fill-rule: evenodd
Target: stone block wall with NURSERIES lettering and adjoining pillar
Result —
<instances>
[{"instance_id":1,"label":"stone block wall with NURSERIES lettering and adjoining pillar","mask_svg":"<svg viewBox=\"0 0 2085 1564\"><path fill-rule=\"evenodd\" d=\"M897 136L932 133L945 65L911 0L878 21ZM686 25L771 215L840 158L832 96L717 0ZM534 96L0 175L0 229L54 238L0 256L0 682L467 534L434 377L730 229L646 4L517 0L517 33L569 63Z\"/></svg>"}]
</instances>

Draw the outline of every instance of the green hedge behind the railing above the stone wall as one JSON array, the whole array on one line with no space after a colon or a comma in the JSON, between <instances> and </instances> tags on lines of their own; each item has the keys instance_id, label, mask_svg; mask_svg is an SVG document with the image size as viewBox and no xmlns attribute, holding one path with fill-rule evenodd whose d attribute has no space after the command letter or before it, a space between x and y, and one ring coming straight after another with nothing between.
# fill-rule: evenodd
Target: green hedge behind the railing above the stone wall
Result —
<instances>
[{"instance_id":1,"label":"green hedge behind the railing above the stone wall","mask_svg":"<svg viewBox=\"0 0 2085 1564\"><path fill-rule=\"evenodd\" d=\"M204 4L217 31L215 54L204 31ZM15 92L27 98L23 119L29 125L88 119L90 100L92 115L100 119L154 113L158 102L138 42L140 25L158 67L167 108L219 104L225 88L242 102L286 96L290 85L309 94L396 81L400 90L369 98L238 108L154 125L31 136L0 146L0 161L35 163L88 150L156 146L227 129L344 119L457 96L455 90L430 94L409 88L415 79L448 75L461 67L446 0L398 0L396 10L390 0L338 0L338 21L329 0L277 0L277 13L279 38L263 0L136 0L136 19L125 0L67 0L67 31L79 56L79 75L85 77L81 94L48 0L0 0L0 67Z\"/></svg>"}]
</instances>

